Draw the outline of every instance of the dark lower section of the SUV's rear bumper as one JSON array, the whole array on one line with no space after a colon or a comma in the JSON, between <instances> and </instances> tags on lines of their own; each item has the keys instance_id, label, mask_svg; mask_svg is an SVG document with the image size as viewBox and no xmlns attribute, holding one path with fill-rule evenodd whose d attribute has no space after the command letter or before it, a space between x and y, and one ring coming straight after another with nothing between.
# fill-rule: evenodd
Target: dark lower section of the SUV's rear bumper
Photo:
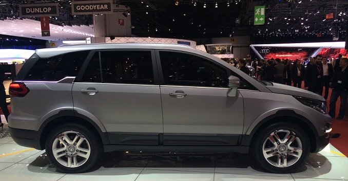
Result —
<instances>
[{"instance_id":1,"label":"dark lower section of the SUV's rear bumper","mask_svg":"<svg viewBox=\"0 0 348 181\"><path fill-rule=\"evenodd\" d=\"M40 135L37 131L23 130L9 127L10 135L14 142L23 147L44 150L40 144Z\"/></svg>"}]
</instances>

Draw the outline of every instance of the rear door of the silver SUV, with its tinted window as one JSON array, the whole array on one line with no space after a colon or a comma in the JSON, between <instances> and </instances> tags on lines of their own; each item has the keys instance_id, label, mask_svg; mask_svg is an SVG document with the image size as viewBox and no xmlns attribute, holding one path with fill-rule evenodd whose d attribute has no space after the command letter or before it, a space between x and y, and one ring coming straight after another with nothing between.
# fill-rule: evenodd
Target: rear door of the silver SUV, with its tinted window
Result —
<instances>
[{"instance_id":1,"label":"rear door of the silver SUV, with its tinted window","mask_svg":"<svg viewBox=\"0 0 348 181\"><path fill-rule=\"evenodd\" d=\"M163 133L154 51L95 51L72 88L74 110L102 124L111 144L159 143Z\"/></svg>"}]
</instances>

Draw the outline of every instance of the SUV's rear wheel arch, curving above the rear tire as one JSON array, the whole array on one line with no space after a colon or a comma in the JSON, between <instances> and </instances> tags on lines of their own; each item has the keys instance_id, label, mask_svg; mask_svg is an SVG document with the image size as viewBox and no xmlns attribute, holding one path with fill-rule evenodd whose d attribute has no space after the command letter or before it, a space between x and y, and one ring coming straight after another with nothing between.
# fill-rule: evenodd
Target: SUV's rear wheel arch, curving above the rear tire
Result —
<instances>
[{"instance_id":1,"label":"SUV's rear wheel arch, curving above the rear tire","mask_svg":"<svg viewBox=\"0 0 348 181\"><path fill-rule=\"evenodd\" d=\"M40 147L45 149L45 143L47 135L49 132L54 129L55 126L64 124L64 123L77 123L84 126L87 126L95 135L99 136L103 144L109 144L109 138L106 132L103 132L98 124L88 117L76 113L73 110L62 110L59 113L46 119L40 126L38 133L40 134Z\"/></svg>"}]
</instances>

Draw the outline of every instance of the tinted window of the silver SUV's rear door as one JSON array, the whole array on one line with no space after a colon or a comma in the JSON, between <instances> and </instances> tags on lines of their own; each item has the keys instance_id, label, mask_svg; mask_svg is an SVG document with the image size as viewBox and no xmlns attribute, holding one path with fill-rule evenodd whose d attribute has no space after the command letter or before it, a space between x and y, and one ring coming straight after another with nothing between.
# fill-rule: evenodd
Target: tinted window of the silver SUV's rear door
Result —
<instances>
[{"instance_id":1,"label":"tinted window of the silver SUV's rear door","mask_svg":"<svg viewBox=\"0 0 348 181\"><path fill-rule=\"evenodd\" d=\"M95 52L82 82L154 84L151 51Z\"/></svg>"}]
</instances>

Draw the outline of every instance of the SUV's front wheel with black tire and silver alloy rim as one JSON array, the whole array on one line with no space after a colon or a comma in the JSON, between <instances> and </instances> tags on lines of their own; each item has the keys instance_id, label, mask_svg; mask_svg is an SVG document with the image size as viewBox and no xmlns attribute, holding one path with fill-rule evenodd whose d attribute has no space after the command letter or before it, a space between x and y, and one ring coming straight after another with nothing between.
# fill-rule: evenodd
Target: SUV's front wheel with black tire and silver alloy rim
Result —
<instances>
[{"instance_id":1,"label":"SUV's front wheel with black tire and silver alloy rim","mask_svg":"<svg viewBox=\"0 0 348 181\"><path fill-rule=\"evenodd\" d=\"M300 169L311 148L310 139L303 129L290 122L266 126L251 144L257 164L271 173L292 173Z\"/></svg>"}]
</instances>

